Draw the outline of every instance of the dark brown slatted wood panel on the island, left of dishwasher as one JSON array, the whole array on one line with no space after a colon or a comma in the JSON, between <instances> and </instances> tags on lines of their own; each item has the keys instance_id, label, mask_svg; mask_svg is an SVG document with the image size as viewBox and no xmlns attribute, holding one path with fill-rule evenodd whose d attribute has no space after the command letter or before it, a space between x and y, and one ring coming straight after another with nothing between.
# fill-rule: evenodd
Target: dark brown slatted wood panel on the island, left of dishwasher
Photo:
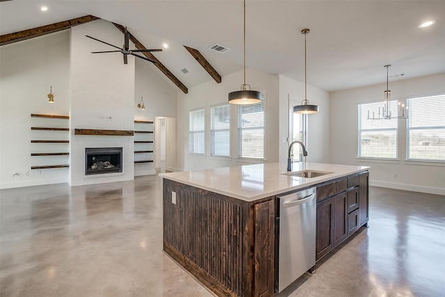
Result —
<instances>
[{"instance_id":1,"label":"dark brown slatted wood panel on the island, left of dishwasher","mask_svg":"<svg viewBox=\"0 0 445 297\"><path fill-rule=\"evenodd\" d=\"M273 296L274 197L246 202L163 183L163 250L219 296Z\"/></svg>"}]
</instances>

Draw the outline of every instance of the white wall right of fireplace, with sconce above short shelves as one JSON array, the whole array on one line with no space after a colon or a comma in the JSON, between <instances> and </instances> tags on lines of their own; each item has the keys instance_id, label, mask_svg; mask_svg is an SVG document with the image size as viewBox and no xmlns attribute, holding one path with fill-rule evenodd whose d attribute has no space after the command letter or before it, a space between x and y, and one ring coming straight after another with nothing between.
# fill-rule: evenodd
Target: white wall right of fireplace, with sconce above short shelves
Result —
<instances>
[{"instance_id":1,"label":"white wall right of fireplace, with sconce above short shelves","mask_svg":"<svg viewBox=\"0 0 445 297\"><path fill-rule=\"evenodd\" d=\"M134 81L134 116L135 120L148 120L155 122L155 117L176 118L176 96L177 90L170 87L161 76L161 73L154 65L142 59L136 59L136 74ZM143 97L145 103L145 111L138 109L137 104L140 102L140 97ZM170 125L171 126L171 125ZM152 131L154 131L152 127ZM175 127L170 127L168 133L175 134ZM154 135L152 135L154 140ZM135 144L135 149L144 148L147 150L155 150L154 144ZM170 150L176 152L175 147L169 147ZM136 158L152 158L153 154L143 156L136 156ZM175 158L169 158L169 164L175 168ZM170 163L173 162L173 163ZM134 165L134 175L153 175L156 173L155 163L138 163Z\"/></svg>"}]
</instances>

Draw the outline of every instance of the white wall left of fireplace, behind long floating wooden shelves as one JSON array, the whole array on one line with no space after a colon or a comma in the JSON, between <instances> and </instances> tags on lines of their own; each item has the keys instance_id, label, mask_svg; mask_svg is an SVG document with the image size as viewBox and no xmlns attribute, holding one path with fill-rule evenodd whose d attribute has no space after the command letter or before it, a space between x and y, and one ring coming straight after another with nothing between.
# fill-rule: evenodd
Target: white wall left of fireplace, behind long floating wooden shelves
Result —
<instances>
[{"instance_id":1,"label":"white wall left of fireplace, behind long floating wooden shelves","mask_svg":"<svg viewBox=\"0 0 445 297\"><path fill-rule=\"evenodd\" d=\"M54 101L47 103L49 87ZM31 118L31 113L70 111L70 31L0 47L0 188L67 182L68 169L31 170L32 165L67 163L66 156L31 156L49 148L38 137L68 139L67 132L35 133L31 126L68 126L67 120ZM65 126L64 126L65 127ZM54 147L54 145L53 145ZM61 145L68 150L67 145ZM19 176L13 175L19 172Z\"/></svg>"}]
</instances>

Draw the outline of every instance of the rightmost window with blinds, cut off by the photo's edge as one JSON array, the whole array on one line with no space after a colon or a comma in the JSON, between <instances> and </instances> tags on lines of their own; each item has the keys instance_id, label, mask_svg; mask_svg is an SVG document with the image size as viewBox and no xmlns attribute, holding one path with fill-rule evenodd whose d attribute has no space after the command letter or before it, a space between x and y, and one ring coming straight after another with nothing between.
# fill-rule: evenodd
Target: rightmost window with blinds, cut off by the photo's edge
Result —
<instances>
[{"instance_id":1,"label":"rightmost window with blinds, cut off by the photo's edge","mask_svg":"<svg viewBox=\"0 0 445 297\"><path fill-rule=\"evenodd\" d=\"M407 159L445 161L445 95L408 99Z\"/></svg>"}]
</instances>

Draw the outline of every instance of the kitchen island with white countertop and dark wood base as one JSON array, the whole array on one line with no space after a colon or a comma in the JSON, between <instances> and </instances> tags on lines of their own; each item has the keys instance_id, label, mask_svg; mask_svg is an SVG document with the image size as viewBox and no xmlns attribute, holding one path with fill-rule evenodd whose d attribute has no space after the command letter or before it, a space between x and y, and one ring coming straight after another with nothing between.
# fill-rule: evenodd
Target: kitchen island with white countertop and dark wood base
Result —
<instances>
[{"instance_id":1,"label":"kitchen island with white countertop and dark wood base","mask_svg":"<svg viewBox=\"0 0 445 297\"><path fill-rule=\"evenodd\" d=\"M273 296L277 195L316 187L316 257L369 219L368 167L284 163L163 177L163 250L218 296ZM300 177L302 172L318 176Z\"/></svg>"}]
</instances>

